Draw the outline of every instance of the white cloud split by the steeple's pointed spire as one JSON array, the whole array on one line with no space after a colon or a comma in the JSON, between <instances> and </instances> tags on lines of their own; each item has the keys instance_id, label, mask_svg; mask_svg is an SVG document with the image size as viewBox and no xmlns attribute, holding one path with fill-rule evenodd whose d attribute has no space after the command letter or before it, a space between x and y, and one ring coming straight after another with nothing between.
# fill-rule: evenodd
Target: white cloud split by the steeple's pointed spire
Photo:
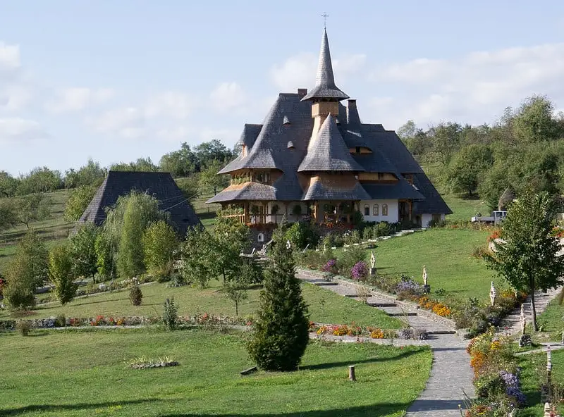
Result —
<instances>
[{"instance_id":1,"label":"white cloud split by the steeple's pointed spire","mask_svg":"<svg viewBox=\"0 0 564 417\"><path fill-rule=\"evenodd\" d=\"M359 73L364 68L366 58L364 54L352 54L333 59L336 84L341 85L348 76ZM318 59L314 54L291 56L283 64L271 68L271 80L283 92L293 92L301 87L312 88L315 85Z\"/></svg>"}]
</instances>

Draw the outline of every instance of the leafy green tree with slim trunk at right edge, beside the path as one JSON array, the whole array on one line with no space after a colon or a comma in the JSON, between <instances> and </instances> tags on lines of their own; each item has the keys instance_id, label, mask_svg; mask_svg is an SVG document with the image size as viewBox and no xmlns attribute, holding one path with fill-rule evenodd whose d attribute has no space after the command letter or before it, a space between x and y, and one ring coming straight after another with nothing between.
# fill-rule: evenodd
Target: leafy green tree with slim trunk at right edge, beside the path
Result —
<instances>
[{"instance_id":1,"label":"leafy green tree with slim trunk at right edge, beside the path","mask_svg":"<svg viewBox=\"0 0 564 417\"><path fill-rule=\"evenodd\" d=\"M486 257L489 268L515 290L531 295L533 328L537 330L534 292L556 288L563 283L564 255L560 242L551 235L556 203L546 192L525 192L510 205L501 228L495 253Z\"/></svg>"}]
</instances>

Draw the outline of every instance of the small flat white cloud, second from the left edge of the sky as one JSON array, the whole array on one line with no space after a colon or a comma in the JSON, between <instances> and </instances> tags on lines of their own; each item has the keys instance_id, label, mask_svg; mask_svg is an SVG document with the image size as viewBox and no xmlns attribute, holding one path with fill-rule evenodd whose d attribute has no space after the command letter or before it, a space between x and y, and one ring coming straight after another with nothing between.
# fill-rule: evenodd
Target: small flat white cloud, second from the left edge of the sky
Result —
<instances>
[{"instance_id":1,"label":"small flat white cloud, second from the left edge of the sky","mask_svg":"<svg viewBox=\"0 0 564 417\"><path fill-rule=\"evenodd\" d=\"M104 104L112 97L114 90L109 88L70 87L57 90L55 97L47 101L45 108L52 113L82 111Z\"/></svg>"}]
</instances>

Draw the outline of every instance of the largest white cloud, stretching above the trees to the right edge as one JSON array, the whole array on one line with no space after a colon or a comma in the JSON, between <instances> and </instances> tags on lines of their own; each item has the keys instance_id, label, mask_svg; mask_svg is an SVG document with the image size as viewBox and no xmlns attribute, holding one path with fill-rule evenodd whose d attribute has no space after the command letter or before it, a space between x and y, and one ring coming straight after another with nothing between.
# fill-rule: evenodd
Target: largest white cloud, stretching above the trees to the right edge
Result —
<instances>
[{"instance_id":1,"label":"largest white cloud, stretching above the trees to the right edge","mask_svg":"<svg viewBox=\"0 0 564 417\"><path fill-rule=\"evenodd\" d=\"M371 79L396 90L386 105L372 100L379 119L398 127L440 120L492 123L506 106L533 94L564 103L564 43L472 52L453 59L419 58L379 68Z\"/></svg>"}]
</instances>

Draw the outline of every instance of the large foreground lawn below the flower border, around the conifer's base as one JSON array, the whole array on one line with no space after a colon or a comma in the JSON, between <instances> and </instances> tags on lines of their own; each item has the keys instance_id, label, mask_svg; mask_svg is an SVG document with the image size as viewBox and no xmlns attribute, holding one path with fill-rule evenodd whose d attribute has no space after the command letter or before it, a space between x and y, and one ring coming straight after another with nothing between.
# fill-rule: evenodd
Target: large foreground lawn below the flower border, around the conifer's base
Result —
<instances>
[{"instance_id":1,"label":"large foreground lawn below the flower border, around the conifer's base","mask_svg":"<svg viewBox=\"0 0 564 417\"><path fill-rule=\"evenodd\" d=\"M431 368L427 347L311 342L300 371L242 377L241 335L204 330L94 330L0 335L2 416L404 415ZM133 370L137 356L170 368ZM356 365L357 382L348 366Z\"/></svg>"}]
</instances>

